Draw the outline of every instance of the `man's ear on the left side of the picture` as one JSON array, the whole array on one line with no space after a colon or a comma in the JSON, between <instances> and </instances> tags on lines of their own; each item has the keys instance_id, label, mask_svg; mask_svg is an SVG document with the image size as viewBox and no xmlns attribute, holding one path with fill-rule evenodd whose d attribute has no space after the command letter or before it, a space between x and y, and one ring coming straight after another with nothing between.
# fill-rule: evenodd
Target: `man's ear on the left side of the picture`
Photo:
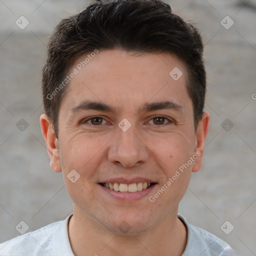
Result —
<instances>
[{"instance_id":1,"label":"man's ear on the left side of the picture","mask_svg":"<svg viewBox=\"0 0 256 256\"><path fill-rule=\"evenodd\" d=\"M52 170L60 172L61 165L59 162L58 140L52 128L52 123L46 114L41 114L40 125L50 158L50 167Z\"/></svg>"}]
</instances>

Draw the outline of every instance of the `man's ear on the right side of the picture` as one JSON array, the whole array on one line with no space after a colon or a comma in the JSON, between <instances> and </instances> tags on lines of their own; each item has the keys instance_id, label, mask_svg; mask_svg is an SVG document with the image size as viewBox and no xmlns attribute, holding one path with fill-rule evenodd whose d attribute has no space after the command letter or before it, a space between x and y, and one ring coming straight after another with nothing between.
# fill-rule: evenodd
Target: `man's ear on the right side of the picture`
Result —
<instances>
[{"instance_id":1,"label":"man's ear on the right side of the picture","mask_svg":"<svg viewBox=\"0 0 256 256\"><path fill-rule=\"evenodd\" d=\"M194 146L194 155L197 155L197 159L194 161L192 166L192 171L196 172L202 167L202 158L204 150L205 138L209 130L209 113L203 112L201 120L198 122L196 134L195 134L195 146Z\"/></svg>"}]
</instances>

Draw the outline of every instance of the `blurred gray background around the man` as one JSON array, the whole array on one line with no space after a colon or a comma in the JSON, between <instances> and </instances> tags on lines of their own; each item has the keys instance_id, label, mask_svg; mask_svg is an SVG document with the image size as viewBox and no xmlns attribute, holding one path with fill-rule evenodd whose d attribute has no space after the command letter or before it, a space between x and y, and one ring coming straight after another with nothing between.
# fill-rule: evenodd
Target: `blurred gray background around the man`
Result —
<instances>
[{"instance_id":1,"label":"blurred gray background around the man","mask_svg":"<svg viewBox=\"0 0 256 256\"><path fill-rule=\"evenodd\" d=\"M165 2L201 30L211 117L203 168L192 173L179 213L256 255L256 0ZM53 27L88 3L0 0L0 242L19 235L21 220L31 231L72 212L40 130L40 70Z\"/></svg>"}]
</instances>

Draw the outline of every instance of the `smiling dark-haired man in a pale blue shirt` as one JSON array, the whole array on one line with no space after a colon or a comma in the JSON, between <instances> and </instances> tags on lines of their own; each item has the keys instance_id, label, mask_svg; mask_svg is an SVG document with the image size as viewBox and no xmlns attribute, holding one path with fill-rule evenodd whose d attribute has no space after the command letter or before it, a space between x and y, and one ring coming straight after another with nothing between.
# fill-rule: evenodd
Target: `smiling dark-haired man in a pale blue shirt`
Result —
<instances>
[{"instance_id":1,"label":"smiling dark-haired man in a pale blue shirt","mask_svg":"<svg viewBox=\"0 0 256 256\"><path fill-rule=\"evenodd\" d=\"M178 214L208 132L202 51L158 0L96 0L56 26L40 124L73 213L0 255L234 255Z\"/></svg>"}]
</instances>

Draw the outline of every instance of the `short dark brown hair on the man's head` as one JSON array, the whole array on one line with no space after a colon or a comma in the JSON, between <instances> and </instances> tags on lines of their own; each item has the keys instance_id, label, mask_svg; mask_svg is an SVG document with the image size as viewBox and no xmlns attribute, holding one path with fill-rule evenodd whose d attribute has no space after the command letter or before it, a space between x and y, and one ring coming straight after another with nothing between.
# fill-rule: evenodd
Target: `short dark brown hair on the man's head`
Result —
<instances>
[{"instance_id":1,"label":"short dark brown hair on the man's head","mask_svg":"<svg viewBox=\"0 0 256 256\"><path fill-rule=\"evenodd\" d=\"M94 0L80 13L62 19L49 39L42 69L42 93L44 111L53 123L56 137L68 69L83 54L114 48L141 53L171 52L183 60L196 130L206 90L203 45L197 29L160 0Z\"/></svg>"}]
</instances>

